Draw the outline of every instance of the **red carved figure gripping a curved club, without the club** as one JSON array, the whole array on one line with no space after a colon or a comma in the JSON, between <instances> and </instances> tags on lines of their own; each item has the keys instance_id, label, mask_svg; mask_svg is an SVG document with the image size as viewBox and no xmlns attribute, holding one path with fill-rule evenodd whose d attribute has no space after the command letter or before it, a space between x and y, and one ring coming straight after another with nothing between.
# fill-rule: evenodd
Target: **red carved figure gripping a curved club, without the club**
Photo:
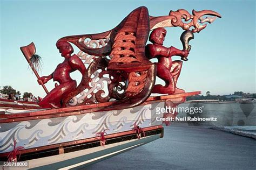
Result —
<instances>
[{"instance_id":1,"label":"red carved figure gripping a curved club, without the club","mask_svg":"<svg viewBox=\"0 0 256 170\"><path fill-rule=\"evenodd\" d=\"M166 36L166 30L164 28L154 29L150 34L150 42L153 44L147 44L145 47L145 53L148 59L157 58L157 76L165 81L165 86L156 84L153 87L152 93L159 94L177 94L184 93L185 91L176 87L180 70L182 67L182 61L172 61L172 56L178 55L181 57L187 57L189 51L180 50L173 46L165 47L164 39Z\"/></svg>"}]
</instances>

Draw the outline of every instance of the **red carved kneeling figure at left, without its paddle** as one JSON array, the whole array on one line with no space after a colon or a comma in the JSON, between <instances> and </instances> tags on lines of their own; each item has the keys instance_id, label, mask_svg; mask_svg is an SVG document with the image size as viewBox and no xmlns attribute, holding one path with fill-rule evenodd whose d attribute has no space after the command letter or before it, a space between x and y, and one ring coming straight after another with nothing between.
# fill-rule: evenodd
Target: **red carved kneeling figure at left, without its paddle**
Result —
<instances>
[{"instance_id":1,"label":"red carved kneeling figure at left, without its paddle","mask_svg":"<svg viewBox=\"0 0 256 170\"><path fill-rule=\"evenodd\" d=\"M71 79L70 73L79 70L83 75L86 71L82 60L78 58L76 54L72 55L74 50L69 42L60 40L57 41L56 46L59 49L59 53L64 57L64 61L56 67L52 74L40 77L38 83L41 84L42 81L42 83L45 84L53 79L53 81L57 81L59 85L55 83L55 88L39 102L42 108L65 107L62 105L62 101L77 87L77 82Z\"/></svg>"}]
</instances>

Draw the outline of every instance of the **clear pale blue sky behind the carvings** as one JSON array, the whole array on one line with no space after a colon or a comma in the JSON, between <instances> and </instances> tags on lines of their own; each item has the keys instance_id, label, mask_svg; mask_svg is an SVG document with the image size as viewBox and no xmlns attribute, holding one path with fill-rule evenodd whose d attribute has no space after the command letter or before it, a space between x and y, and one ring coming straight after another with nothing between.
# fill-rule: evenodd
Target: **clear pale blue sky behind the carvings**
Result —
<instances>
[{"instance_id":1,"label":"clear pale blue sky behind the carvings","mask_svg":"<svg viewBox=\"0 0 256 170\"><path fill-rule=\"evenodd\" d=\"M183 63L178 87L211 94L255 93L254 1L1 1L0 86L44 96L28 70L19 47L35 42L43 58L40 75L49 75L63 61L55 46L64 36L100 33L118 25L133 9L147 6L151 16L170 10L214 10L223 17L208 24L191 40L189 60ZM164 45L182 48L180 28L167 29ZM178 56L173 59L180 59ZM79 79L78 73L72 77ZM79 80L78 80L79 81ZM159 80L157 82L160 82ZM46 84L53 88L53 82Z\"/></svg>"}]
</instances>

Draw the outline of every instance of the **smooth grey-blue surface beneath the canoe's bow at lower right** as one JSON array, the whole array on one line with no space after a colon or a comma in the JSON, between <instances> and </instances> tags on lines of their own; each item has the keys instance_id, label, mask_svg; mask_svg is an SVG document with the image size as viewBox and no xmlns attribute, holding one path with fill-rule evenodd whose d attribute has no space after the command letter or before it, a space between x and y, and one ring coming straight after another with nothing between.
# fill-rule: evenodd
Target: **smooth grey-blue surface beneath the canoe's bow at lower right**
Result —
<instances>
[{"instance_id":1,"label":"smooth grey-blue surface beneath the canoe's bow at lower right","mask_svg":"<svg viewBox=\"0 0 256 170\"><path fill-rule=\"evenodd\" d=\"M86 169L256 169L256 140L176 124L165 127L164 138Z\"/></svg>"}]
</instances>

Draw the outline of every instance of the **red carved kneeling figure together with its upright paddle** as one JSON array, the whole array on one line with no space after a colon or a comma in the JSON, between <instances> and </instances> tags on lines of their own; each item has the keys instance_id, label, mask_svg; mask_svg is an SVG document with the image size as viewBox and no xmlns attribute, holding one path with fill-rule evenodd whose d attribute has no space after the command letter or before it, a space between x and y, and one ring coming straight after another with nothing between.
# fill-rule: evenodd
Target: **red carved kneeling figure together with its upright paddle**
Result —
<instances>
[{"instance_id":1,"label":"red carved kneeling figure together with its upright paddle","mask_svg":"<svg viewBox=\"0 0 256 170\"><path fill-rule=\"evenodd\" d=\"M29 62L30 67L37 76L37 81L43 86L46 96L43 98L39 105L42 108L60 108L65 107L63 101L69 97L69 94L77 88L76 80L71 79L70 73L79 70L82 75L85 74L86 68L82 60L73 53L73 47L67 41L57 41L57 48L59 53L64 57L64 61L60 63L54 72L48 76L40 77L37 73L37 66L39 66L40 56L35 54L36 48L33 42L25 47L21 47L26 60ZM55 83L55 88L48 92L44 86L49 80L57 81L59 84Z\"/></svg>"}]
</instances>

